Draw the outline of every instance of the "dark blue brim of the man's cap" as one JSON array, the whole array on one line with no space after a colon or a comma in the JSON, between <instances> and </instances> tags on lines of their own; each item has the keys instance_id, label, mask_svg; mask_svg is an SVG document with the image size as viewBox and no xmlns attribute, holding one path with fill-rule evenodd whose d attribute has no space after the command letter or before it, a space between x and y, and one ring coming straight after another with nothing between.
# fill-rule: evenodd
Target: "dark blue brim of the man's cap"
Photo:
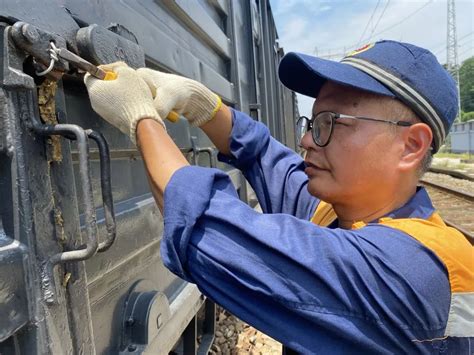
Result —
<instances>
[{"instance_id":1,"label":"dark blue brim of the man's cap","mask_svg":"<svg viewBox=\"0 0 474 355\"><path fill-rule=\"evenodd\" d=\"M326 80L374 94L395 97L383 84L364 72L344 63L290 52L278 68L281 82L290 90L317 97Z\"/></svg>"}]
</instances>

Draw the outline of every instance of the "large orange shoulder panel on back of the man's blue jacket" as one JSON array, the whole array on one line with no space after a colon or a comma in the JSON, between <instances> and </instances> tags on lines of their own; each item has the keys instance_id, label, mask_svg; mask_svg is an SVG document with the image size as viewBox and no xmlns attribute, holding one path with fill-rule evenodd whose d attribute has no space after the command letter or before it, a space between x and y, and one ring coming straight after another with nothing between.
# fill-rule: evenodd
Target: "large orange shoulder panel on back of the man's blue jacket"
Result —
<instances>
[{"instance_id":1,"label":"large orange shoulder panel on back of the man's blue jacket","mask_svg":"<svg viewBox=\"0 0 474 355\"><path fill-rule=\"evenodd\" d=\"M427 220L381 218L379 223L407 233L432 250L446 265L451 292L474 292L474 247L437 213Z\"/></svg>"}]
</instances>

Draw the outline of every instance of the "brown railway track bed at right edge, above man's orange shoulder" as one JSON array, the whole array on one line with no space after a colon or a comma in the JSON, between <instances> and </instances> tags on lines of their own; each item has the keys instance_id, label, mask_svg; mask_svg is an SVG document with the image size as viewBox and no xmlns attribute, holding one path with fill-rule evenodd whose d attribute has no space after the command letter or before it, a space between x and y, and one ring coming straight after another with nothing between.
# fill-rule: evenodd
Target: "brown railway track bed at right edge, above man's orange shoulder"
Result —
<instances>
[{"instance_id":1,"label":"brown railway track bed at right edge, above man's orange shoulder","mask_svg":"<svg viewBox=\"0 0 474 355\"><path fill-rule=\"evenodd\" d=\"M474 244L474 194L427 179L420 182L446 224L458 229Z\"/></svg>"}]
</instances>

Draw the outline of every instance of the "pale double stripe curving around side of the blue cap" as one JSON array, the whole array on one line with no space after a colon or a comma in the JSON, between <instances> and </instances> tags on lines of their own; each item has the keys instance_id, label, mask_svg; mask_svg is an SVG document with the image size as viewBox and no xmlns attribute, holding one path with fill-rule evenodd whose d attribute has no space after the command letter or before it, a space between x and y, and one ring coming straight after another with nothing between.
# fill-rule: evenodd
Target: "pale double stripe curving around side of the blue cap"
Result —
<instances>
[{"instance_id":1,"label":"pale double stripe curving around side of the blue cap","mask_svg":"<svg viewBox=\"0 0 474 355\"><path fill-rule=\"evenodd\" d=\"M444 128L443 121L438 116L436 110L430 105L429 102L423 98L415 89L407 85L405 82L394 76L393 74L385 71L384 69L374 65L361 58L346 57L341 60L341 63L351 65L364 73L372 76L376 80L385 84L394 93L401 96L408 103L415 107L415 111L419 113L422 118L431 123L430 126L433 129L435 135L435 150L438 150L446 137L446 130Z\"/></svg>"}]
</instances>

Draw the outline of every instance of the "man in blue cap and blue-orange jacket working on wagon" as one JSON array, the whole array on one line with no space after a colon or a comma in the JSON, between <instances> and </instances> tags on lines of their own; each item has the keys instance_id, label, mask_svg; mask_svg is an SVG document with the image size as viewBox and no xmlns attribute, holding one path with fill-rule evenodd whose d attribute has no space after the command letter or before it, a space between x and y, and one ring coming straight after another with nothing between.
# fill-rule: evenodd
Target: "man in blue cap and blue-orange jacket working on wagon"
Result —
<instances>
[{"instance_id":1,"label":"man in blue cap and blue-orange jacket working on wagon","mask_svg":"<svg viewBox=\"0 0 474 355\"><path fill-rule=\"evenodd\" d=\"M431 53L382 41L341 63L285 56L282 82L317 98L305 161L195 81L108 69L115 81L85 79L92 107L138 142L171 271L297 352L470 352L473 250L417 188L457 108ZM189 166L171 111L244 173L264 214L223 172Z\"/></svg>"}]
</instances>

